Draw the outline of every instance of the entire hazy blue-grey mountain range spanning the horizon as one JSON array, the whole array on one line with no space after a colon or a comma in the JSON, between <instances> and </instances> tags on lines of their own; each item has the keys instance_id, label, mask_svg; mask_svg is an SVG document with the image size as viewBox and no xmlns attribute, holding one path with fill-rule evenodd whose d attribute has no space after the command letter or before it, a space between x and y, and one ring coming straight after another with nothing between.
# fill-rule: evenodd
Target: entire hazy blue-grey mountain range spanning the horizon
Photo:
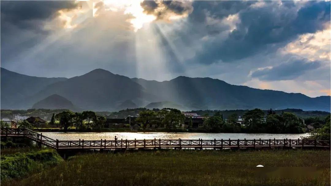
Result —
<instances>
[{"instance_id":1,"label":"entire hazy blue-grey mountain range spanning the horizon","mask_svg":"<svg viewBox=\"0 0 331 186\"><path fill-rule=\"evenodd\" d=\"M43 78L1 68L0 87L1 109L52 105L53 109L71 107L95 111L136 107L172 107L180 110L300 108L330 111L330 96L313 98L301 93L260 90L212 78L179 76L158 82L128 78L103 69L72 78ZM60 104L57 101L59 99L62 100Z\"/></svg>"}]
</instances>

